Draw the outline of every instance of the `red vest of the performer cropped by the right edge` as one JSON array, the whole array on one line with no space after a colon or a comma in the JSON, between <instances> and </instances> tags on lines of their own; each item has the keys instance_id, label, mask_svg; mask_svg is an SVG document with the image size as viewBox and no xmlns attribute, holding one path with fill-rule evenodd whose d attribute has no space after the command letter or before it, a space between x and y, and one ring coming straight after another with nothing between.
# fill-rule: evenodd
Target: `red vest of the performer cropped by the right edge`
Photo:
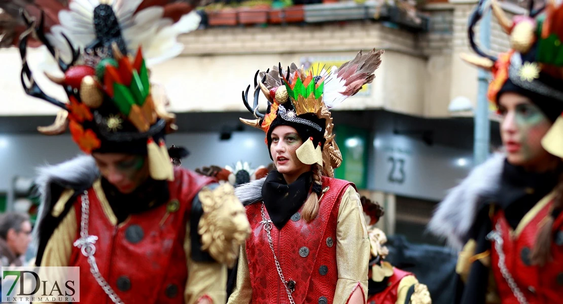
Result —
<instances>
[{"instance_id":1,"label":"red vest of the performer cropped by the right edge","mask_svg":"<svg viewBox=\"0 0 563 304\"><path fill-rule=\"evenodd\" d=\"M521 220L519 229L512 231L504 217L504 212L497 211L493 216L493 228L498 223L503 239L502 251L505 256L505 265L515 280L518 288L524 294L528 303L561 303L563 301L563 214L558 216L553 229L554 239L551 244L552 260L544 267L531 265L529 254L534 248L538 230L542 227L543 220L550 212L552 201L537 206L537 210L530 210ZM529 217L528 223L525 223ZM498 266L499 252L495 244L491 243L491 267L497 283L499 297L502 304L519 304L506 279L503 278Z\"/></svg>"}]
</instances>

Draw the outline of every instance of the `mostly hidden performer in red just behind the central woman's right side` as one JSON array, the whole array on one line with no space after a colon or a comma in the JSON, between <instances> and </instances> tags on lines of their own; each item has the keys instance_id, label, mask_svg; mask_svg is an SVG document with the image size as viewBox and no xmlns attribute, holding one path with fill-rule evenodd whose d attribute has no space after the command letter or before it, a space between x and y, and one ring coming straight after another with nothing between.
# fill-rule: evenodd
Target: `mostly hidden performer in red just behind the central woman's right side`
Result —
<instances>
[{"instance_id":1,"label":"mostly hidden performer in red just behind the central woman's right side","mask_svg":"<svg viewBox=\"0 0 563 304\"><path fill-rule=\"evenodd\" d=\"M376 227L383 208L377 202L362 196L361 207L368 224L371 256L368 269L368 304L431 304L430 292L425 284L418 282L414 274L403 271L385 257L389 250L385 246L387 236Z\"/></svg>"}]
</instances>

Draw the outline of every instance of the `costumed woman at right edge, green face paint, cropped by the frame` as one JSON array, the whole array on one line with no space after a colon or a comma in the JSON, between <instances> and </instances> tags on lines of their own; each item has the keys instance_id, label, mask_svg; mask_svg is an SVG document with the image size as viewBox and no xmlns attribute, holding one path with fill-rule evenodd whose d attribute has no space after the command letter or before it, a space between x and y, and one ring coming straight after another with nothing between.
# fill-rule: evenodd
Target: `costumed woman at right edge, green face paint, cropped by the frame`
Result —
<instances>
[{"instance_id":1,"label":"costumed woman at right edge, green face paint, cropped by the frame","mask_svg":"<svg viewBox=\"0 0 563 304\"><path fill-rule=\"evenodd\" d=\"M563 6L548 1L512 20L493 0L511 50L464 56L493 72L502 155L477 166L440 203L429 225L457 248L461 303L559 303L563 297ZM554 123L555 122L555 123Z\"/></svg>"}]
</instances>

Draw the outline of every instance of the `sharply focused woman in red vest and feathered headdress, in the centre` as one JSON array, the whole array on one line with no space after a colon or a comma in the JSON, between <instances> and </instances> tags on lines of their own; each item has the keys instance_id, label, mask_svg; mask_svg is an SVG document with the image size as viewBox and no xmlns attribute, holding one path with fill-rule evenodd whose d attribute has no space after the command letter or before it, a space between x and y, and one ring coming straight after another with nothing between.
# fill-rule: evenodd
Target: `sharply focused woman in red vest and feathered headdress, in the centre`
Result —
<instances>
[{"instance_id":1,"label":"sharply focused woman in red vest and feathered headdress, in the centre","mask_svg":"<svg viewBox=\"0 0 563 304\"><path fill-rule=\"evenodd\" d=\"M243 102L266 133L276 170L236 188L251 237L229 303L365 303L369 240L355 186L332 178L342 162L330 108L373 81L383 51L359 52L319 75L292 63L254 75ZM320 70L320 69L319 69ZM258 111L260 91L268 99Z\"/></svg>"}]
</instances>

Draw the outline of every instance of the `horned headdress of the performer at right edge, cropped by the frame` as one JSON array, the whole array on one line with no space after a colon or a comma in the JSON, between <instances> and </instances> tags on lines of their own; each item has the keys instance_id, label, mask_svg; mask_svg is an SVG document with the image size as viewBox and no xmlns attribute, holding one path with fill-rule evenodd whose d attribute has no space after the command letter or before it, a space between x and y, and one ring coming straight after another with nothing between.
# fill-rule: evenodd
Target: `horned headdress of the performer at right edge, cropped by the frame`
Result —
<instances>
[{"instance_id":1,"label":"horned headdress of the performer at right edge, cropped by the frame","mask_svg":"<svg viewBox=\"0 0 563 304\"><path fill-rule=\"evenodd\" d=\"M548 0L545 7L533 10L534 1L530 1L530 15L515 16L511 20L504 15L497 0L491 0L493 14L510 37L510 51L498 58L486 54L475 43L473 28L481 19L484 6L485 0L480 0L468 29L471 47L479 56L464 54L462 59L493 73L489 101L497 103L500 93L510 85L516 92L532 96L533 101L537 99L551 105L563 103L563 5ZM552 108L557 111L553 113L555 117L561 115L559 107ZM549 153L563 157L561 116L543 137L542 144Z\"/></svg>"}]
</instances>

